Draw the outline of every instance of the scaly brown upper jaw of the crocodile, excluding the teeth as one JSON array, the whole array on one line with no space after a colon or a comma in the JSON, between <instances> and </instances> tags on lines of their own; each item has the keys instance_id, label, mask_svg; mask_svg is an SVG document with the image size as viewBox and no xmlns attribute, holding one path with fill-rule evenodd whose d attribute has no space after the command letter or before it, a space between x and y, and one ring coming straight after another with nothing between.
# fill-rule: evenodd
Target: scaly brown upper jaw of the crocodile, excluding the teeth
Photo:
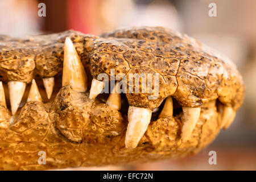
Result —
<instances>
[{"instance_id":1,"label":"scaly brown upper jaw of the crocodile, excluding the teeth","mask_svg":"<svg viewBox=\"0 0 256 182\"><path fill-rule=\"evenodd\" d=\"M144 30L143 27L135 27L133 29L134 32L138 31L139 34L141 34L141 32ZM163 28L159 29L151 27L150 29L146 29L157 30L159 31L159 33L161 32L161 34L167 34L168 32L164 32ZM122 30L119 31L122 32ZM126 32L127 30L123 31ZM35 79L35 75L39 75L43 78L43 80L52 80L51 84L48 84L52 85L54 77L58 74L62 75L64 42L66 37L71 38L72 42L74 43L77 54L79 55L85 69L91 69L91 73L88 72L86 74L87 77L89 75L92 75L93 78L97 80L98 73L100 73L98 69L100 69L102 72L108 73L110 65L109 67L107 67L107 62L108 60L111 61L111 59L113 59L113 62L115 62L114 66L118 68L116 69L116 72L120 71L124 74L134 71L146 73L147 71L145 69L139 68L139 65L135 65L135 67L133 68L133 65L131 65L130 63L128 64L127 61L119 61L120 55L125 55L125 59L127 60L136 58L133 56L127 57L129 56L128 52L133 51L134 48L129 47L129 44L127 44L129 42L128 39L127 42L123 42L125 39L122 39L122 36L124 36L123 38L128 38L126 36L129 35L128 33L126 35L125 32L122 32L122 34L118 34L118 37L121 37L115 39L108 38L108 36L113 37L115 35L114 33L105 34L105 38L99 38L97 36L84 35L80 32L75 31L66 31L61 32L60 34L35 36L26 39L3 38L1 39L3 46L0 47L2 48L0 61L0 76L2 77L1 80L5 82L19 81L28 84L32 81L33 78ZM175 35L175 33L173 34ZM172 34L167 34L166 36L169 37L171 35ZM183 37L180 34L177 34L177 36L180 36L180 39L184 39L184 41L187 39L187 37ZM143 37L141 39L143 39ZM130 41L137 41L135 43L139 44L139 39L137 40L133 38ZM150 46L152 46L153 48L154 45L150 44ZM169 45L166 43L165 46L171 47L172 44L170 43ZM161 85L159 89L159 91L163 93L160 93L160 95L163 96L161 100L159 100L159 102L156 104L151 102L148 102L148 104L141 104L142 102L137 101L139 100L140 96L136 97L134 95L127 95L127 97L136 97L136 99L134 99L134 102L133 99L130 99L130 105L146 108L151 107L150 109L154 109L154 107L158 107L160 105L164 98L168 96L174 96L175 99L179 101L182 106L197 107L201 104L219 98L219 100L223 104L232 106L235 110L237 110L243 101L244 85L241 76L237 72L236 68L234 68L233 64L229 65L228 61L222 61L220 59L217 59L216 56L212 56L210 55L210 53L204 50L200 52L201 47L198 47L199 45L192 46L195 46L195 50L187 50L187 52L189 52L191 55L191 59L195 58L193 57L193 52L196 52L196 59L199 59L201 57L200 61L204 61L202 63L205 64L197 64L196 61L188 61L188 59L180 58L179 60L179 57L174 57L173 60L166 59L163 57L163 55L157 54L157 50L152 50L151 52L146 51L149 55L155 55L155 59L149 61L148 63L149 65L151 65L150 67L152 67L152 69L154 69L156 72L163 72L163 77L160 76L160 80L164 80L163 82L166 82L166 84ZM106 51L104 48L106 49ZM113 52L113 55L111 54L112 52L110 53L110 51ZM137 51L139 52L140 49L138 49ZM159 51L163 50L160 49ZM142 53L138 52L133 53L134 56L139 57L144 55L143 53L145 53L143 51ZM101 58L102 66L100 66L101 63L98 63L96 60L94 61L93 58L95 57L95 53L97 55L102 55L103 57L105 56L106 63L103 61L103 58ZM175 54L176 56L179 56L180 53L185 52L176 51ZM199 53L201 53L202 55L200 56ZM209 57L211 58L210 60L212 62L207 61L209 60ZM97 56L95 57L95 59L96 58ZM158 68L157 64L155 64L157 63L158 59L160 59L160 61L163 61L163 63L168 64L169 66L172 65L174 67L173 70L168 68L166 71L166 69L164 68ZM170 62L171 60L172 62ZM174 60L176 60L175 63L173 63ZM96 65L97 68L94 69L93 65ZM106 66L107 69L105 70L103 66ZM126 69L122 70L124 68ZM150 69L148 71L150 71ZM170 71L173 71L174 73ZM168 75L167 73L170 73L170 75ZM189 79L187 79L187 77L189 77ZM50 98L52 87L47 87L47 83L45 84L45 86L48 92L48 98ZM164 90L161 90L161 88L164 88Z\"/></svg>"}]
</instances>

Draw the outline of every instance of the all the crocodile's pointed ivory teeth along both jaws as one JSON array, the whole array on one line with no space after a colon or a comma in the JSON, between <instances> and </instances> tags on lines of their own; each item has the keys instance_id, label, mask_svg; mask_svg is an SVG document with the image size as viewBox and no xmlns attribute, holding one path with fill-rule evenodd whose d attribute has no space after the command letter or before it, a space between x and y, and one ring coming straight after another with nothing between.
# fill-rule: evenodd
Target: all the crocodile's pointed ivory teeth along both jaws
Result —
<instances>
[{"instance_id":1,"label":"all the crocodile's pointed ivory teeth along both jaws","mask_svg":"<svg viewBox=\"0 0 256 182\"><path fill-rule=\"evenodd\" d=\"M54 86L54 78L44 78L44 86L46 88L47 97L50 98ZM63 80L62 86L72 86L72 89L76 92L86 92L87 90L87 78L85 69L80 61L79 55L76 52L75 47L71 39L66 38L64 45L64 63L63 63ZM8 82L10 92L10 104L11 113L14 115L22 100L26 84L20 81ZM89 98L92 100L97 97L104 89L104 82L93 79L92 86L90 88ZM114 87L115 89L115 87ZM121 109L121 95L115 90L112 90L106 104L113 107L116 110ZM29 101L41 101L38 86L35 80L32 80L30 92L28 94L27 102ZM2 82L0 82L0 105L6 107L5 93L3 90ZM192 131L196 126L196 123L200 117L200 107L182 107L183 109L183 127L181 130L181 141L185 142L191 137ZM137 147L139 140L142 138L147 130L152 115L151 109L129 106L128 109L128 126L126 131L125 146L126 148ZM159 118L172 117L173 104L172 98L168 97L164 103L164 107L159 114ZM236 112L232 107L224 106L222 109L221 128L227 128L232 123Z\"/></svg>"}]
</instances>

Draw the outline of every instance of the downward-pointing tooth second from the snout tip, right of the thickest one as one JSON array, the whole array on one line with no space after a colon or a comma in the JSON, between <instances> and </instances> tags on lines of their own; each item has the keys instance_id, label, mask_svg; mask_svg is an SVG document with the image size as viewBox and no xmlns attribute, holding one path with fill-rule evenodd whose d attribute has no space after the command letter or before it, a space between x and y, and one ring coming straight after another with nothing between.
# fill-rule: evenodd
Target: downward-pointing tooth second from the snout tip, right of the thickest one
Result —
<instances>
[{"instance_id":1,"label":"downward-pointing tooth second from the snout tip, right of the thickest one","mask_svg":"<svg viewBox=\"0 0 256 182\"><path fill-rule=\"evenodd\" d=\"M181 130L181 139L187 141L195 129L196 123L200 117L200 107L182 107L183 109L183 127Z\"/></svg>"}]
</instances>

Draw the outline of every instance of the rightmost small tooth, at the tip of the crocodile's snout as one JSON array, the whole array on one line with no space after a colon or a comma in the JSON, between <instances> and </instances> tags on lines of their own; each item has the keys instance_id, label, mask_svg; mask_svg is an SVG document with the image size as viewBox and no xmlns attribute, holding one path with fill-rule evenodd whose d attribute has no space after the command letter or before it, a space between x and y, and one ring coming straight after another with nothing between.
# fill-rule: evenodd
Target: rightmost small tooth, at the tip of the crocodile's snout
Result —
<instances>
[{"instance_id":1,"label":"rightmost small tooth, at the tip of the crocodile's snout","mask_svg":"<svg viewBox=\"0 0 256 182\"><path fill-rule=\"evenodd\" d=\"M236 112L233 110L232 107L224 106L223 113L222 113L222 127L224 129L228 129L228 127L232 124L234 121L234 118L236 117Z\"/></svg>"}]
</instances>

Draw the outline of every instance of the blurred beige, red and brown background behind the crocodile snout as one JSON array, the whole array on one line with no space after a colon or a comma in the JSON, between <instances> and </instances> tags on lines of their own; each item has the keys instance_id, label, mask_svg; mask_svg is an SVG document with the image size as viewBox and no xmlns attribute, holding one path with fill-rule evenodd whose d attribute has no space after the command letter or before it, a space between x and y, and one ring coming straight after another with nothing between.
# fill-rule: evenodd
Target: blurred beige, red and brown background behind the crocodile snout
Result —
<instances>
[{"instance_id":1,"label":"blurred beige, red and brown background behind the crocodile snout","mask_svg":"<svg viewBox=\"0 0 256 182\"><path fill-rule=\"evenodd\" d=\"M39 17L39 3L46 16ZM210 3L217 16L210 17ZM245 102L228 130L195 156L133 166L78 170L256 170L256 1L254 0L1 0L0 34L24 36L68 29L100 35L114 28L163 26L230 57L246 84ZM217 152L217 165L208 163ZM70 169L70 168L69 168Z\"/></svg>"}]
</instances>

